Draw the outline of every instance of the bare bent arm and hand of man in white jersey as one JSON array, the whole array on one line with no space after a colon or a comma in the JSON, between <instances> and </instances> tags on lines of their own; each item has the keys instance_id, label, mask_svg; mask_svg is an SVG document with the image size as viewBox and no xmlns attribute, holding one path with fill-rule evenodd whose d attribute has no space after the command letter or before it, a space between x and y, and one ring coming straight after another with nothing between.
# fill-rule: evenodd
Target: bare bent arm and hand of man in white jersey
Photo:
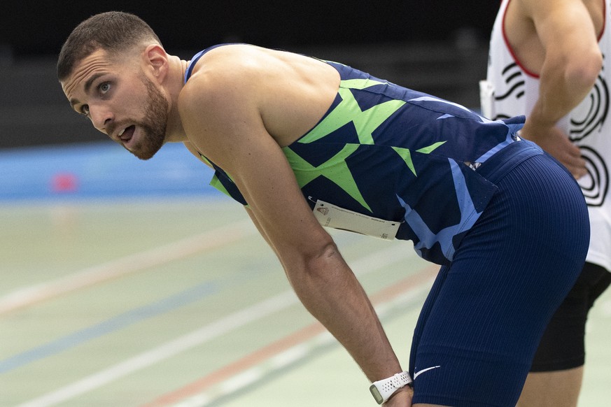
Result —
<instances>
[{"instance_id":1,"label":"bare bent arm and hand of man in white jersey","mask_svg":"<svg viewBox=\"0 0 611 407\"><path fill-rule=\"evenodd\" d=\"M539 98L522 135L584 175L579 150L555 127L591 90L601 71L594 22L582 0L514 0L505 24L518 58L540 75Z\"/></svg>"}]
</instances>

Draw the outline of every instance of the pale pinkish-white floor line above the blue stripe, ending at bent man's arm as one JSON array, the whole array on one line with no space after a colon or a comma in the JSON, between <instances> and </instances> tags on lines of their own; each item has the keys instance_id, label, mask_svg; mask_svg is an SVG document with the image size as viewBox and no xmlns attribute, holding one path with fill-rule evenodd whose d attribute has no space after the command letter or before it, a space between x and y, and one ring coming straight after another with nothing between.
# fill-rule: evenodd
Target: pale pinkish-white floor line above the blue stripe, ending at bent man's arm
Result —
<instances>
[{"instance_id":1,"label":"pale pinkish-white floor line above the blue stripe, ending at bent man's arm","mask_svg":"<svg viewBox=\"0 0 611 407\"><path fill-rule=\"evenodd\" d=\"M46 299L101 283L111 278L172 262L176 259L214 250L241 238L257 234L250 220L206 231L180 241L134 253L104 264L88 267L76 273L45 283L23 287L0 297L0 315Z\"/></svg>"}]
</instances>

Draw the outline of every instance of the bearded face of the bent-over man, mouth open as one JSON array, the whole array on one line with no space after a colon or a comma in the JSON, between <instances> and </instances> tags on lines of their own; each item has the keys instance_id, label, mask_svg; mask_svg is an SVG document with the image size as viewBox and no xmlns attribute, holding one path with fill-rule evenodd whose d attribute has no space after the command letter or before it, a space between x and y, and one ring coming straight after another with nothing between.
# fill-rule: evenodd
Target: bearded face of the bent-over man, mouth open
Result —
<instances>
[{"instance_id":1,"label":"bearded face of the bent-over man, mouth open","mask_svg":"<svg viewBox=\"0 0 611 407\"><path fill-rule=\"evenodd\" d=\"M136 157L149 159L164 144L169 103L138 62L97 50L75 66L62 88L77 113Z\"/></svg>"}]
</instances>

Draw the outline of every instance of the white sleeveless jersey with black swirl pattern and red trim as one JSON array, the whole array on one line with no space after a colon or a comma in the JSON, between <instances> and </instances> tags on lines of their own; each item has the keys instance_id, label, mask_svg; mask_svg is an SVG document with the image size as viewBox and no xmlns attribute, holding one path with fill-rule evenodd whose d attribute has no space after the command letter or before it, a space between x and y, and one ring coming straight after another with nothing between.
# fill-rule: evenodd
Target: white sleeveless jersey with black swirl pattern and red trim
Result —
<instances>
[{"instance_id":1,"label":"white sleeveless jersey with black swirl pattern and red trim","mask_svg":"<svg viewBox=\"0 0 611 407\"><path fill-rule=\"evenodd\" d=\"M490 40L487 77L480 83L482 114L494 120L515 115L528 117L539 97L538 75L524 69L505 36L505 14L510 1L501 1ZM611 32L608 27L611 0L601 1L605 2L605 24L598 44L603 53L603 69L589 95L558 126L580 147L587 161L588 174L578 180L591 223L587 262L611 271Z\"/></svg>"}]
</instances>

